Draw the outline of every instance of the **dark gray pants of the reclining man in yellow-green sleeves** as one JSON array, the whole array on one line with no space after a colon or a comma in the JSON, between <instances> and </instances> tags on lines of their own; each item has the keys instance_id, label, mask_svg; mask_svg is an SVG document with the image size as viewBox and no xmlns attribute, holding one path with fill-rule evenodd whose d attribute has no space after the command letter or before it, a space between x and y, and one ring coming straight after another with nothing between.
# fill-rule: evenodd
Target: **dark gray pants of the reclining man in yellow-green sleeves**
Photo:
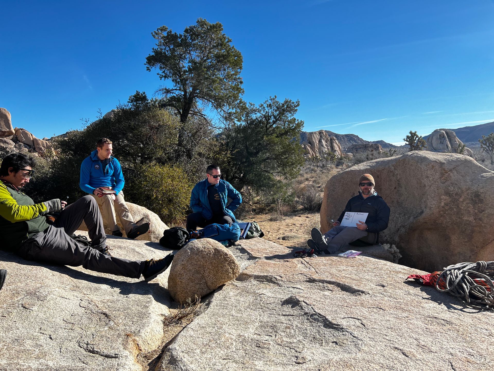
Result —
<instances>
[{"instance_id":1,"label":"dark gray pants of the reclining man in yellow-green sleeves","mask_svg":"<svg viewBox=\"0 0 494 371\"><path fill-rule=\"evenodd\" d=\"M70 237L82 221L89 230L91 247L84 246ZM104 247L106 234L103 219L96 200L87 195L68 205L53 225L25 241L17 255L26 260L72 267L82 266L91 271L117 276L141 276L144 262L108 256L97 250Z\"/></svg>"}]
</instances>

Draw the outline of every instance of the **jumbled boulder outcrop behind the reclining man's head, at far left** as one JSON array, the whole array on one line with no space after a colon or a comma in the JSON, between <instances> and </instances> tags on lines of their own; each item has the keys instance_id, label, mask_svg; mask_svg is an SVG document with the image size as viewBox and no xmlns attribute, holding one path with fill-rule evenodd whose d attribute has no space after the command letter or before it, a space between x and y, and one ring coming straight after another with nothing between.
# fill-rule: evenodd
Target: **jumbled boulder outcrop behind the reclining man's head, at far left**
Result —
<instances>
[{"instance_id":1,"label":"jumbled boulder outcrop behind the reclining man's head, at far left","mask_svg":"<svg viewBox=\"0 0 494 371\"><path fill-rule=\"evenodd\" d=\"M0 108L0 149L6 152L26 152L36 156L57 155L49 141L38 139L22 128L12 128L10 112Z\"/></svg>"}]
</instances>

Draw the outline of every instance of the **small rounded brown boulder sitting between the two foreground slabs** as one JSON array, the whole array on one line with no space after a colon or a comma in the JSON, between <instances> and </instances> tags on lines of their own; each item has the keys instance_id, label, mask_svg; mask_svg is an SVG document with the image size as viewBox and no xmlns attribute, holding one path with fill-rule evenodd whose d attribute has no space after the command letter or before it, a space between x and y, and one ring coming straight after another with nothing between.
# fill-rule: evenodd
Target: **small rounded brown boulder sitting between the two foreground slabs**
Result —
<instances>
[{"instance_id":1,"label":"small rounded brown boulder sitting between the two foreground slabs","mask_svg":"<svg viewBox=\"0 0 494 371\"><path fill-rule=\"evenodd\" d=\"M188 242L173 258L168 277L171 297L194 302L240 274L233 254L210 238Z\"/></svg>"}]
</instances>

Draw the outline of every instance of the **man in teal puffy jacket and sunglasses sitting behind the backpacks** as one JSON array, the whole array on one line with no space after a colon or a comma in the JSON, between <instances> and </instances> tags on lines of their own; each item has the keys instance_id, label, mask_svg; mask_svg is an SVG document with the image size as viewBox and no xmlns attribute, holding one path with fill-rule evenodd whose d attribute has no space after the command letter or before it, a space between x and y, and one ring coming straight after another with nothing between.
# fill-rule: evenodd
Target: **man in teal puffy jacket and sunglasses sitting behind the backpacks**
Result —
<instances>
[{"instance_id":1,"label":"man in teal puffy jacket and sunglasses sitting behind the backpacks","mask_svg":"<svg viewBox=\"0 0 494 371\"><path fill-rule=\"evenodd\" d=\"M227 206L228 198L232 201ZM206 168L206 179L192 189L190 208L192 214L187 216L187 231L209 224L232 224L235 222L233 212L242 203L242 196L230 183L221 179L218 165Z\"/></svg>"}]
</instances>

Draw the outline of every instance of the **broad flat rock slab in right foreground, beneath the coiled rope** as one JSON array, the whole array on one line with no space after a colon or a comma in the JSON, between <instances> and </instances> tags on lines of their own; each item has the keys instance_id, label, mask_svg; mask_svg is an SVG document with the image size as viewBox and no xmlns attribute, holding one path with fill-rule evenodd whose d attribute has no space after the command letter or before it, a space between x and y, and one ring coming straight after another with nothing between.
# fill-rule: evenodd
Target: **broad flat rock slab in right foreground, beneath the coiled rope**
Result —
<instances>
[{"instance_id":1,"label":"broad flat rock slab in right foreground, beneath the coiled rope","mask_svg":"<svg viewBox=\"0 0 494 371\"><path fill-rule=\"evenodd\" d=\"M492 370L492 313L465 309L423 272L382 260L314 257L254 238L242 273L165 348L156 370ZM175 264L175 262L173 262Z\"/></svg>"}]
</instances>

